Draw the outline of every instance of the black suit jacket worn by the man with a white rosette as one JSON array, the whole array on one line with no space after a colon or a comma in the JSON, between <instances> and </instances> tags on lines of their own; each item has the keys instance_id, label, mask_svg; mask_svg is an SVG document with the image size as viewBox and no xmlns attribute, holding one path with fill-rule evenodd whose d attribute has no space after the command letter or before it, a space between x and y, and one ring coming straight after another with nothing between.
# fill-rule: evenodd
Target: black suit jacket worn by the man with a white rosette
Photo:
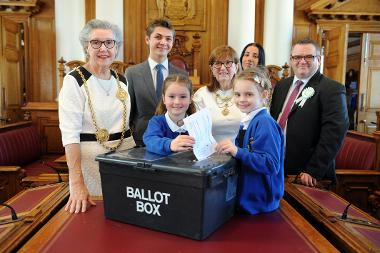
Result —
<instances>
[{"instance_id":1,"label":"black suit jacket worn by the man with a white rosette","mask_svg":"<svg viewBox=\"0 0 380 253\"><path fill-rule=\"evenodd\" d=\"M274 89L270 112L275 120L281 113L293 78L279 81ZM319 71L304 89L307 87L314 89L314 95L302 108L293 105L288 117L285 174L306 172L317 180L335 182L335 156L349 125L345 87Z\"/></svg>"}]
</instances>

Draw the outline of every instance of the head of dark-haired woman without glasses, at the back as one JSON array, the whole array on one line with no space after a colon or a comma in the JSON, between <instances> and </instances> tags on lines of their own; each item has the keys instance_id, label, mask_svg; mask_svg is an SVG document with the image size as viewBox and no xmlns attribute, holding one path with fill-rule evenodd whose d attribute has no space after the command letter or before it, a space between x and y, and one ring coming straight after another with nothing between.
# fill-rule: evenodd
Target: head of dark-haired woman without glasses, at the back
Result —
<instances>
[{"instance_id":1,"label":"head of dark-haired woman without glasses, at the back","mask_svg":"<svg viewBox=\"0 0 380 253\"><path fill-rule=\"evenodd\" d=\"M255 66L265 66L265 51L259 43L249 43L240 55L241 68L247 69Z\"/></svg>"}]
</instances>

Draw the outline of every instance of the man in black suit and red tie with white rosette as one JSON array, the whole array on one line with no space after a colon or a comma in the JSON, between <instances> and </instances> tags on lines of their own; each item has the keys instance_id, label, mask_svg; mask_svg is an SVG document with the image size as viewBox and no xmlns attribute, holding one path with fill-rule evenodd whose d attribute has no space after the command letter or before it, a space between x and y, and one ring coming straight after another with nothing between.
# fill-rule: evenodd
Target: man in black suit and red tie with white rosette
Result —
<instances>
[{"instance_id":1,"label":"man in black suit and red tie with white rosette","mask_svg":"<svg viewBox=\"0 0 380 253\"><path fill-rule=\"evenodd\" d=\"M285 174L307 186L335 182L335 156L349 125L345 87L320 73L312 40L293 45L290 64L294 76L277 83L270 109L286 136Z\"/></svg>"}]
</instances>

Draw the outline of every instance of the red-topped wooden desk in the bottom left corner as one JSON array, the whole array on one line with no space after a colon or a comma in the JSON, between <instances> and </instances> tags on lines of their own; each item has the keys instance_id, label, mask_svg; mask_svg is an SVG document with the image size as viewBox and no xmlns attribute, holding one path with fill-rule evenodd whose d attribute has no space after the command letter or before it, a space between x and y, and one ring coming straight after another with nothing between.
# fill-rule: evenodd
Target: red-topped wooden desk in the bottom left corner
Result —
<instances>
[{"instance_id":1,"label":"red-topped wooden desk in the bottom left corner","mask_svg":"<svg viewBox=\"0 0 380 253\"><path fill-rule=\"evenodd\" d=\"M17 212L19 221L0 224L0 252L13 252L29 239L35 230L59 210L69 196L67 183L31 188L6 202ZM0 222L10 221L10 210L0 207Z\"/></svg>"}]
</instances>

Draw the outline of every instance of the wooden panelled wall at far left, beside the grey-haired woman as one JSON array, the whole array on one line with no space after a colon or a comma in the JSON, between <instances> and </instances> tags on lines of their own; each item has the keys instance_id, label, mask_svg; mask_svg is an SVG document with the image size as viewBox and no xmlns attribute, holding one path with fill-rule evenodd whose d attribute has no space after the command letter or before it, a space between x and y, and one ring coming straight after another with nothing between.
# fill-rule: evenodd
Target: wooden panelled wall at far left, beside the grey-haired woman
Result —
<instances>
[{"instance_id":1,"label":"wooden panelled wall at far left, beside the grey-haired woman","mask_svg":"<svg viewBox=\"0 0 380 253\"><path fill-rule=\"evenodd\" d=\"M33 121L43 153L62 153L58 128L54 0L0 9L1 88L8 123ZM9 53L11 52L11 53ZM48 105L48 106L47 106Z\"/></svg>"}]
</instances>

